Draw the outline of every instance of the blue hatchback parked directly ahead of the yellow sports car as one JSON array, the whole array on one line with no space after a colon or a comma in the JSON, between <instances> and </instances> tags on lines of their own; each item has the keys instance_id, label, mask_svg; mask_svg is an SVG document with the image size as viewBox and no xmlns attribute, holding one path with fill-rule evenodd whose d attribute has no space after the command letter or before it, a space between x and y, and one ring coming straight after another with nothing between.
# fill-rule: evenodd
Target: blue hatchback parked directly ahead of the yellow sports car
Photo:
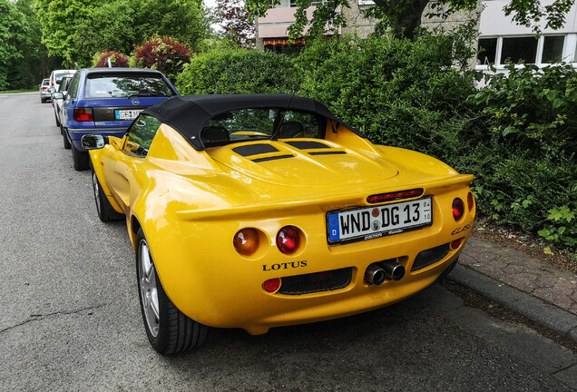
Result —
<instances>
[{"instance_id":1,"label":"blue hatchback parked directly ahead of the yellow sports car","mask_svg":"<svg viewBox=\"0 0 577 392\"><path fill-rule=\"evenodd\" d=\"M64 148L72 148L74 169L88 169L83 135L122 137L142 110L175 95L179 93L171 82L150 69L93 68L74 73L61 112Z\"/></svg>"}]
</instances>

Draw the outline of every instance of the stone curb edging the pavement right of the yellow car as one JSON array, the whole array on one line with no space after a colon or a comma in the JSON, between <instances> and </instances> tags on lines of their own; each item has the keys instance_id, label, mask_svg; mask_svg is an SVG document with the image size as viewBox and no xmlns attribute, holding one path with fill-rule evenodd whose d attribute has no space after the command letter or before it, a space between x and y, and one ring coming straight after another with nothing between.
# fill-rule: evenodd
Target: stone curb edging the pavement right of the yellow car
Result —
<instances>
[{"instance_id":1,"label":"stone curb edging the pavement right of the yellow car","mask_svg":"<svg viewBox=\"0 0 577 392\"><path fill-rule=\"evenodd\" d=\"M577 315L462 264L457 264L447 278L577 343Z\"/></svg>"}]
</instances>

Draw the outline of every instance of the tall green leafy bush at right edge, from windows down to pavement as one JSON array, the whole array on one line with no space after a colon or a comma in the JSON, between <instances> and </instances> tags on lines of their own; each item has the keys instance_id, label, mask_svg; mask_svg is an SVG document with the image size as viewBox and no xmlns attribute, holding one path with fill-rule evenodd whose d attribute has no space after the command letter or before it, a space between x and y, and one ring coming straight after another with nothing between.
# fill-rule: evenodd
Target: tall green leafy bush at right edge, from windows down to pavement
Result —
<instances>
[{"instance_id":1,"label":"tall green leafy bush at right edge, from windows down to pavement","mask_svg":"<svg viewBox=\"0 0 577 392\"><path fill-rule=\"evenodd\" d=\"M508 65L470 97L483 133L466 141L479 206L494 220L577 244L577 73ZM546 223L545 223L546 222Z\"/></svg>"}]
</instances>

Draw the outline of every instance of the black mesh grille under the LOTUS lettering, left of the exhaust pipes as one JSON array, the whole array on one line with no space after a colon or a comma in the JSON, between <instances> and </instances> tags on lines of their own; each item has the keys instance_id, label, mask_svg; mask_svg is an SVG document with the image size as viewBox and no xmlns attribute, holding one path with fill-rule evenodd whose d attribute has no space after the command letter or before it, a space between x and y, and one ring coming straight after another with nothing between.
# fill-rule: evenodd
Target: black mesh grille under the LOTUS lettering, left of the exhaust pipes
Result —
<instances>
[{"instance_id":1,"label":"black mesh grille under the LOTUS lettering, left of the exhaust pipes","mask_svg":"<svg viewBox=\"0 0 577 392\"><path fill-rule=\"evenodd\" d=\"M279 294L301 295L346 288L352 277L351 268L328 270L282 279Z\"/></svg>"}]
</instances>

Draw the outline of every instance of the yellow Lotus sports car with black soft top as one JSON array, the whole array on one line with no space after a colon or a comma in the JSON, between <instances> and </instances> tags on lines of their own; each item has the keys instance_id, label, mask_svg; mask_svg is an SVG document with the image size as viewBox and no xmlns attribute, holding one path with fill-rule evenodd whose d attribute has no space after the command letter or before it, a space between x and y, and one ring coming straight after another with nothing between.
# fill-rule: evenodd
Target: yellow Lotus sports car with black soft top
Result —
<instances>
[{"instance_id":1,"label":"yellow Lotus sports car with black soft top","mask_svg":"<svg viewBox=\"0 0 577 392\"><path fill-rule=\"evenodd\" d=\"M258 335L406 299L455 265L474 221L472 175L308 98L175 97L83 147L100 219L126 218L162 354L208 327Z\"/></svg>"}]
</instances>

